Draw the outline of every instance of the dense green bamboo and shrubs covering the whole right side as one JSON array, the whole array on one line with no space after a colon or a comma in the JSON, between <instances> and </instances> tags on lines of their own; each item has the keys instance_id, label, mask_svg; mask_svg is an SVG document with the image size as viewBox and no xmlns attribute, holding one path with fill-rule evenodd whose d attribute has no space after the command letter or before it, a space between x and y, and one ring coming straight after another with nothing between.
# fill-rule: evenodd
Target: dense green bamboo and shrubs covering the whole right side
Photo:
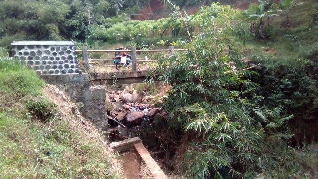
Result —
<instances>
[{"instance_id":1,"label":"dense green bamboo and shrubs covering the whole right side","mask_svg":"<svg viewBox=\"0 0 318 179\"><path fill-rule=\"evenodd\" d=\"M310 128L317 123L318 83L311 70L317 65L317 22L287 31L273 28L275 19L265 26L262 20L287 2L270 3L260 0L244 12L212 4L185 15L184 25L200 26L200 33L179 40L177 46L189 51L163 58L153 74L173 86L164 107L168 123L156 131L166 134L161 150L170 149L168 156L177 160L184 154L174 167L184 167L191 178L312 178L307 171L315 170L309 163L317 162L311 160L317 154L306 145L317 140ZM261 65L260 74L249 71L242 58ZM291 141L303 148L292 148Z\"/></svg>"}]
</instances>

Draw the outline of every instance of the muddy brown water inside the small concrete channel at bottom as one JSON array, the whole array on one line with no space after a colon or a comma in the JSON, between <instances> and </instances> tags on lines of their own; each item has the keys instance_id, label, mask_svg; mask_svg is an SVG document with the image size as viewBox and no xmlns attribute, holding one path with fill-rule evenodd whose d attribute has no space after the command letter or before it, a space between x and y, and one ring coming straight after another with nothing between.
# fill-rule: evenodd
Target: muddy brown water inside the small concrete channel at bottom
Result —
<instances>
[{"instance_id":1,"label":"muddy brown water inside the small concrete channel at bottom","mask_svg":"<svg viewBox=\"0 0 318 179\"><path fill-rule=\"evenodd\" d=\"M119 159L123 162L123 172L127 179L140 179L140 160L135 151L122 153Z\"/></svg>"}]
</instances>

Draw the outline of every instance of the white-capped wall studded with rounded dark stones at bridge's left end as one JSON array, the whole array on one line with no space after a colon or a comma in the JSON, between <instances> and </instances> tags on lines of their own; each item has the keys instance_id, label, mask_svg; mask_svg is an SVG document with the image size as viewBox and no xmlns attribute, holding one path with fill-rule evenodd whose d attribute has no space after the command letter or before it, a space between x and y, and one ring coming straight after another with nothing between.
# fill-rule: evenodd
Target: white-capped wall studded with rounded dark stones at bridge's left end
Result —
<instances>
[{"instance_id":1,"label":"white-capped wall studded with rounded dark stones at bridge's left end","mask_svg":"<svg viewBox=\"0 0 318 179\"><path fill-rule=\"evenodd\" d=\"M12 56L37 72L46 74L76 74L76 46L68 41L20 41L11 43Z\"/></svg>"}]
</instances>

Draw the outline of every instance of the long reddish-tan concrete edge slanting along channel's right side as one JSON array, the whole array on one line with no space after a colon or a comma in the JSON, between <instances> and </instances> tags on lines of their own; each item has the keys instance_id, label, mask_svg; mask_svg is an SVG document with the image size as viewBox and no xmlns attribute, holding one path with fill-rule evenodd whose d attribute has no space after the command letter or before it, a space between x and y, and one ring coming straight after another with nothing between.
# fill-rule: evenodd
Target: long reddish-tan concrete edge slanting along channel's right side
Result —
<instances>
[{"instance_id":1,"label":"long reddish-tan concrete edge slanting along channel's right side","mask_svg":"<svg viewBox=\"0 0 318 179\"><path fill-rule=\"evenodd\" d=\"M134 146L137 152L139 153L140 157L144 160L144 162L148 166L154 179L168 179L165 173L161 170L161 168L157 164L157 162L150 156L149 152L147 151L147 149L141 142L134 144Z\"/></svg>"}]
</instances>

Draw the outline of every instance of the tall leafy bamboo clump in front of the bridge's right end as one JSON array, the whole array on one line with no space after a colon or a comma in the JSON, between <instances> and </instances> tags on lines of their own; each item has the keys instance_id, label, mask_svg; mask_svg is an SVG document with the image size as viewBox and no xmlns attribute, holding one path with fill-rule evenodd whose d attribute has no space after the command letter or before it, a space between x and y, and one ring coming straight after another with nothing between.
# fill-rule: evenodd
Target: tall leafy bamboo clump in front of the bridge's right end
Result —
<instances>
[{"instance_id":1,"label":"tall leafy bamboo clump in front of the bridge's right end","mask_svg":"<svg viewBox=\"0 0 318 179\"><path fill-rule=\"evenodd\" d=\"M181 139L187 141L182 145L186 148L180 149L186 151L184 170L195 179L252 178L259 173L270 178L281 171L286 178L293 170L298 174L295 177L301 178L300 159L274 152L277 148L288 150L282 139L291 137L284 125L292 115L284 115L282 106L255 107L247 98L258 85L248 79L255 72L246 70L231 48L235 46L230 40L233 24L238 19L226 15L235 13L214 3L202 7L200 14L185 14L183 23L200 24L201 33L193 40L178 41L178 46L189 50L163 57L156 69L158 79L172 85L164 105L169 130L182 129L187 137ZM224 53L227 48L229 53ZM268 141L271 138L277 147ZM293 150L288 153L296 155ZM266 175L266 171L272 173Z\"/></svg>"}]
</instances>

